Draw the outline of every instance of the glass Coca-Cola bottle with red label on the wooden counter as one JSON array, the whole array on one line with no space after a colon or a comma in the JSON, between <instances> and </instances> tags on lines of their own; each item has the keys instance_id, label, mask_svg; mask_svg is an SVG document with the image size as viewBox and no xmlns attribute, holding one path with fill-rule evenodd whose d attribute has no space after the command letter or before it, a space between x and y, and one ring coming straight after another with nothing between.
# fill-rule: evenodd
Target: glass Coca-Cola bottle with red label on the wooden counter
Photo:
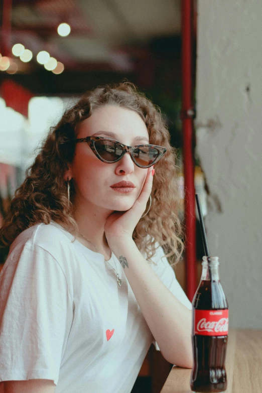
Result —
<instances>
[{"instance_id":1,"label":"glass Coca-Cola bottle with red label on the wooden counter","mask_svg":"<svg viewBox=\"0 0 262 393\"><path fill-rule=\"evenodd\" d=\"M201 280L192 301L190 387L197 393L217 393L226 390L227 386L228 304L219 280L218 266L217 256L203 256Z\"/></svg>"}]
</instances>

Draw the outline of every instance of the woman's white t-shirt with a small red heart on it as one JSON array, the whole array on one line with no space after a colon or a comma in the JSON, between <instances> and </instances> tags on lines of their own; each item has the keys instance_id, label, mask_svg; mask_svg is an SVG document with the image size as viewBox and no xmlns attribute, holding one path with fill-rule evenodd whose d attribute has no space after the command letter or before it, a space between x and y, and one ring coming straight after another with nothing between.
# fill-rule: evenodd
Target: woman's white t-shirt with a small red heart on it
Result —
<instances>
[{"instance_id":1,"label":"woman's white t-shirt with a small red heart on it","mask_svg":"<svg viewBox=\"0 0 262 393\"><path fill-rule=\"evenodd\" d=\"M12 243L0 273L0 381L44 378L56 393L129 393L152 342L159 347L121 265L119 287L113 255L107 263L73 239L52 222ZM163 255L159 247L158 266L150 266L192 309Z\"/></svg>"}]
</instances>

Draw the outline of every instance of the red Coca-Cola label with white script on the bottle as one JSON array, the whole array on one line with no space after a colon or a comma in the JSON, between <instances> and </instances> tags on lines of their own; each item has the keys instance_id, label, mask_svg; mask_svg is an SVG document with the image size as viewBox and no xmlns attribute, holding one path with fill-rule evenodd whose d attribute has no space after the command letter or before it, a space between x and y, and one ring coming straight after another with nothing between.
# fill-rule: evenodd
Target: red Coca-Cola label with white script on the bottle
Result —
<instances>
[{"instance_id":1,"label":"red Coca-Cola label with white script on the bottle","mask_svg":"<svg viewBox=\"0 0 262 393\"><path fill-rule=\"evenodd\" d=\"M226 336L228 334L228 310L194 311L194 334L202 336Z\"/></svg>"}]
</instances>

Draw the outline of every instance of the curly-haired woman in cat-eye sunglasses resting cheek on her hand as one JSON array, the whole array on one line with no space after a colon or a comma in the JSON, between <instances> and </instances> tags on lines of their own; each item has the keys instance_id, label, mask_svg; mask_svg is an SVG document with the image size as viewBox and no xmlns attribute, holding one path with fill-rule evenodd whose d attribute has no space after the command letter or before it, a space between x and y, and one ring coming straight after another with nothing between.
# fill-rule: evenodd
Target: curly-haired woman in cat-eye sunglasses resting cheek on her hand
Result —
<instances>
[{"instance_id":1,"label":"curly-haired woman in cat-eye sunglasses resting cheek on her hand","mask_svg":"<svg viewBox=\"0 0 262 393\"><path fill-rule=\"evenodd\" d=\"M87 92L50 130L1 229L6 385L129 393L152 342L192 367L192 306L166 258L183 250L169 141L129 82Z\"/></svg>"}]
</instances>

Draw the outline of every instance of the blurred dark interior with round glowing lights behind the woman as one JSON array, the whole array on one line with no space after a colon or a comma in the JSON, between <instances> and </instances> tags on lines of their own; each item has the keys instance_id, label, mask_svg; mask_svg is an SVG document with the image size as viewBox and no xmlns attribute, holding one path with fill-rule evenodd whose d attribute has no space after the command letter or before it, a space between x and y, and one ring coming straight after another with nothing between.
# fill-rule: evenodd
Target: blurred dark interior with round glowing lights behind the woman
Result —
<instances>
[{"instance_id":1,"label":"blurred dark interior with round glowing lights behind the woman","mask_svg":"<svg viewBox=\"0 0 262 393\"><path fill-rule=\"evenodd\" d=\"M177 149L183 220L180 0L5 0L1 11L0 220L49 127L86 90L124 78L164 114ZM195 86L196 10L193 23ZM197 161L195 181L206 213ZM197 236L200 274L204 252ZM0 266L6 256L0 250ZM176 276L185 290L184 259ZM171 366L151 347L133 393L159 392Z\"/></svg>"}]
</instances>

